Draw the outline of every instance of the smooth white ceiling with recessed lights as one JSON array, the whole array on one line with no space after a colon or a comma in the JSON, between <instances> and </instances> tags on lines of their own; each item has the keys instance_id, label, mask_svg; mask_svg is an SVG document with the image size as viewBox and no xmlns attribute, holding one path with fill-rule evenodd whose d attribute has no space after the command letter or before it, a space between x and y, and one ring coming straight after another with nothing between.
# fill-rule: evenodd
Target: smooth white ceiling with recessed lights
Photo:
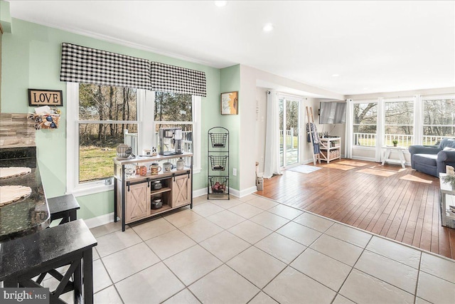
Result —
<instances>
[{"instance_id":1,"label":"smooth white ceiling with recessed lights","mask_svg":"<svg viewBox=\"0 0 455 304\"><path fill-rule=\"evenodd\" d=\"M9 2L14 18L343 95L455 86L455 1Z\"/></svg>"}]
</instances>

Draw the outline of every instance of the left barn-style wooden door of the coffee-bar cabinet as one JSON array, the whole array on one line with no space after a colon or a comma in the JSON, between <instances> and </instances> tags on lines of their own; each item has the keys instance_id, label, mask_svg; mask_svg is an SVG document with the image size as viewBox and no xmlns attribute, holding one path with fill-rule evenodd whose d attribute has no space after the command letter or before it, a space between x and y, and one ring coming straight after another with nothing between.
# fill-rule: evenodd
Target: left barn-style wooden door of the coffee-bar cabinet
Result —
<instances>
[{"instance_id":1,"label":"left barn-style wooden door of the coffee-bar cabinet","mask_svg":"<svg viewBox=\"0 0 455 304\"><path fill-rule=\"evenodd\" d=\"M126 199L128 201L125 209L127 222L149 215L150 187L148 182L128 186Z\"/></svg>"}]
</instances>

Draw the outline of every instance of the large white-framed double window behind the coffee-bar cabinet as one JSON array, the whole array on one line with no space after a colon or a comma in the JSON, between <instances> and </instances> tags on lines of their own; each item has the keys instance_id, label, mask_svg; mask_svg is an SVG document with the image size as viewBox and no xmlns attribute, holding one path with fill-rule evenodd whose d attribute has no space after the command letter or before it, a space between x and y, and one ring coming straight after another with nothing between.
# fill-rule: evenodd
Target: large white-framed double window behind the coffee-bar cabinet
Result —
<instances>
[{"instance_id":1,"label":"large white-framed double window behind the coffee-bar cabinet","mask_svg":"<svg viewBox=\"0 0 455 304\"><path fill-rule=\"evenodd\" d=\"M159 127L182 127L183 149L193 152L193 172L200 172L199 96L82 83L67 83L67 94L68 193L112 189L117 145L141 154L157 147Z\"/></svg>"}]
</instances>

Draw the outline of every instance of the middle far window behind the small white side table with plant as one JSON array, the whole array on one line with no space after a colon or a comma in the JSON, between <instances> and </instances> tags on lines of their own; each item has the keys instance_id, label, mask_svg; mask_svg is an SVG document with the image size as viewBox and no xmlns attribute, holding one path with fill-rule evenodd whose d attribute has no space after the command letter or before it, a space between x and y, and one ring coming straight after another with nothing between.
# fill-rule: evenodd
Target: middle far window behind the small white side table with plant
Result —
<instances>
[{"instance_id":1,"label":"middle far window behind the small white side table with plant","mask_svg":"<svg viewBox=\"0 0 455 304\"><path fill-rule=\"evenodd\" d=\"M409 147L414 137L414 101L385 100L384 144L398 140L401 147Z\"/></svg>"}]
</instances>

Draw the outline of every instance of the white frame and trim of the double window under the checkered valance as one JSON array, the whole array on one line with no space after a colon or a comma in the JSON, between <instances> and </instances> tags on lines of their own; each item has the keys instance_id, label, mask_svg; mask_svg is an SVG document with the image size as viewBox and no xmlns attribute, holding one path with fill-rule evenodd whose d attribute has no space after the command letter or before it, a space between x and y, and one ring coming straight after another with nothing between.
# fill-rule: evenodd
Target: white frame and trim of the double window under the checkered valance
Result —
<instances>
[{"instance_id":1,"label":"white frame and trim of the double window under the checkered valance","mask_svg":"<svg viewBox=\"0 0 455 304\"><path fill-rule=\"evenodd\" d=\"M129 121L138 125L138 152L154 145L154 96L148 90L137 89L137 120ZM114 189L112 179L79 183L79 83L66 84L66 194L84 196ZM200 125L201 98L193 95L193 173L199 173L200 166ZM92 122L92 121L90 121ZM150 136L151 135L151 136ZM112 173L114 164L112 164ZM77 169L75 169L77 168Z\"/></svg>"}]
</instances>

